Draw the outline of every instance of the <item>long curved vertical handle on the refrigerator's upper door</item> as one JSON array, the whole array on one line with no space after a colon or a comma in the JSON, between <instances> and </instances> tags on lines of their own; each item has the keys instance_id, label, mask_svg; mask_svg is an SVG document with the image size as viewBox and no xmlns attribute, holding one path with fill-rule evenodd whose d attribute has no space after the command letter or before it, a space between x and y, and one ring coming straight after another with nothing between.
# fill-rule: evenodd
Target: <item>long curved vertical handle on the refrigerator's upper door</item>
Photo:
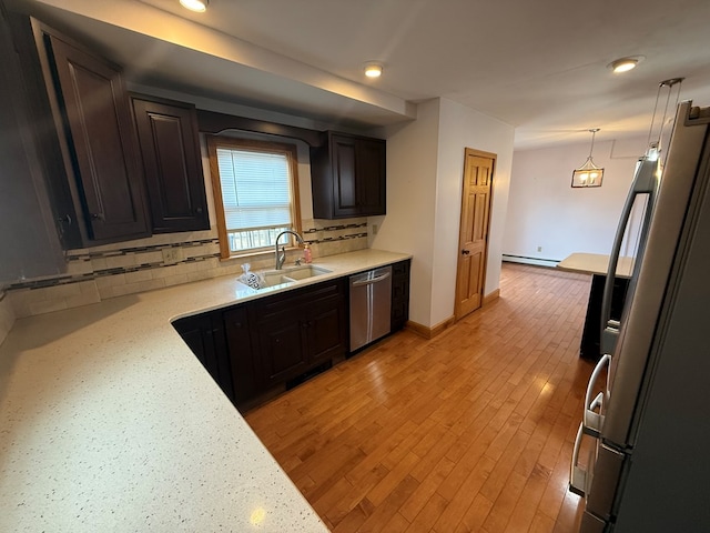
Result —
<instances>
[{"instance_id":1,"label":"long curved vertical handle on the refrigerator's upper door","mask_svg":"<svg viewBox=\"0 0 710 533\"><path fill-rule=\"evenodd\" d=\"M618 324L610 323L611 295L613 293L613 282L617 275L621 244L623 243L623 235L626 234L629 218L633 210L633 203L639 194L649 195L639 241L641 243L641 249L637 251L637 253L642 253L646 234L648 233L648 227L651 219L653 201L658 190L659 178L660 161L656 157L642 157L639 160L639 165L637 168L636 175L633 177L631 189L626 198L619 225L617 227L617 233L613 238L613 244L611 245L611 253L609 254L609 266L607 269L607 279L604 285L604 296L601 299L601 353L613 353L613 349L619 336Z\"/></svg>"}]
</instances>

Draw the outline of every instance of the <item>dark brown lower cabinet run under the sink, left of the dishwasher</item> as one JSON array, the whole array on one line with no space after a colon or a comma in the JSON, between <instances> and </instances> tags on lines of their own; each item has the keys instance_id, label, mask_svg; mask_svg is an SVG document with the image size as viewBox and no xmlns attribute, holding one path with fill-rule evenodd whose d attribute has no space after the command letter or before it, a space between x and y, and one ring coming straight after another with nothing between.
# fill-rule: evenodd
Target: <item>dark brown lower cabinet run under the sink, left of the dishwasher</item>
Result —
<instances>
[{"instance_id":1,"label":"dark brown lower cabinet run under the sink, left of the dishwasher","mask_svg":"<svg viewBox=\"0 0 710 533\"><path fill-rule=\"evenodd\" d=\"M346 284L346 278L326 281L180 319L173 326L240 408L344 359Z\"/></svg>"}]
</instances>

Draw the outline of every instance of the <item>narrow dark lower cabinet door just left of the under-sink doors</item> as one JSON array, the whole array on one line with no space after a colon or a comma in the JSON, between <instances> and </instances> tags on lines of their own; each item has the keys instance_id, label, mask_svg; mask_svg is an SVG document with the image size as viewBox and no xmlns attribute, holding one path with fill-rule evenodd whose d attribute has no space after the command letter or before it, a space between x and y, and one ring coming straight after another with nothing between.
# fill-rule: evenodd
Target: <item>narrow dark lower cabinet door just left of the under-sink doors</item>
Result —
<instances>
[{"instance_id":1,"label":"narrow dark lower cabinet door just left of the under-sink doors","mask_svg":"<svg viewBox=\"0 0 710 533\"><path fill-rule=\"evenodd\" d=\"M239 402L254 398L263 389L258 379L255 353L252 349L246 306L225 311L224 328L232 368L234 401L239 404Z\"/></svg>"}]
</instances>

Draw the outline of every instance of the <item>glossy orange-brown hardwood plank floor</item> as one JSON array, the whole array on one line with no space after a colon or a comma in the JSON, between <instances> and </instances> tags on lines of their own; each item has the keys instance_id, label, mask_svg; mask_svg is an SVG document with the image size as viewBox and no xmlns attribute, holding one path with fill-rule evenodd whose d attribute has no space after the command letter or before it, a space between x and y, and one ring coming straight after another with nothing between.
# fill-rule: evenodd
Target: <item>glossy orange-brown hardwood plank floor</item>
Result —
<instances>
[{"instance_id":1,"label":"glossy orange-brown hardwood plank floor","mask_svg":"<svg viewBox=\"0 0 710 533\"><path fill-rule=\"evenodd\" d=\"M334 532L577 531L586 275L504 264L500 298L403 331L246 413Z\"/></svg>"}]
</instances>

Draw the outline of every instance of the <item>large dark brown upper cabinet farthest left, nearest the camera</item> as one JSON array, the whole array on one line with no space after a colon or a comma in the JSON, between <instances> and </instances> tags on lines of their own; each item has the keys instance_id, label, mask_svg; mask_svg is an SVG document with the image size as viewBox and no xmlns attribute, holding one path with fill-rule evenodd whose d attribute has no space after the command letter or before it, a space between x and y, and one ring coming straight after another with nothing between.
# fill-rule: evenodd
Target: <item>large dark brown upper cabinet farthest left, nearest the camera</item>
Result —
<instances>
[{"instance_id":1,"label":"large dark brown upper cabinet farthest left, nearest the camera","mask_svg":"<svg viewBox=\"0 0 710 533\"><path fill-rule=\"evenodd\" d=\"M145 183L121 70L14 13L28 124L65 249L150 235Z\"/></svg>"}]
</instances>

